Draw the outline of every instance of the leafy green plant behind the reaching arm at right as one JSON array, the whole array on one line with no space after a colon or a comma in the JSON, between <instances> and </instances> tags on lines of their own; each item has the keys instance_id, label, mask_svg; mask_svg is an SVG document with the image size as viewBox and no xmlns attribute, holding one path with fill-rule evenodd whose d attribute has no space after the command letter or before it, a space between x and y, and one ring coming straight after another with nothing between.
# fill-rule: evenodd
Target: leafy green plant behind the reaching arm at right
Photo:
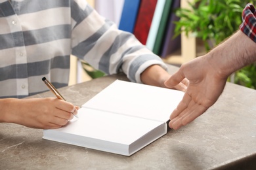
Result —
<instances>
[{"instance_id":1,"label":"leafy green plant behind the reaching arm at right","mask_svg":"<svg viewBox=\"0 0 256 170\"><path fill-rule=\"evenodd\" d=\"M205 49L230 37L242 23L242 11L247 3L256 1L240 0L194 0L189 3L190 9L177 9L175 13L181 19L175 22L175 36L181 32L190 33L202 39ZM256 65L244 67L235 74L235 83L256 88Z\"/></svg>"}]
</instances>

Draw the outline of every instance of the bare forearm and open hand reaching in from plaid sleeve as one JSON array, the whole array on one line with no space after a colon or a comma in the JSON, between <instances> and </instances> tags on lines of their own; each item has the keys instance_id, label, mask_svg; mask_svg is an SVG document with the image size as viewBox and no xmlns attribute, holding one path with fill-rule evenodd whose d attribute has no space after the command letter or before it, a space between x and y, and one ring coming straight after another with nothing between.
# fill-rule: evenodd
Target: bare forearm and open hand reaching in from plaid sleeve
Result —
<instances>
[{"instance_id":1,"label":"bare forearm and open hand reaching in from plaid sleeve","mask_svg":"<svg viewBox=\"0 0 256 170\"><path fill-rule=\"evenodd\" d=\"M173 87L184 78L190 81L181 103L171 113L169 127L185 126L211 107L223 92L228 76L256 61L255 49L256 43L238 31L205 56L182 65L165 82Z\"/></svg>"}]
</instances>

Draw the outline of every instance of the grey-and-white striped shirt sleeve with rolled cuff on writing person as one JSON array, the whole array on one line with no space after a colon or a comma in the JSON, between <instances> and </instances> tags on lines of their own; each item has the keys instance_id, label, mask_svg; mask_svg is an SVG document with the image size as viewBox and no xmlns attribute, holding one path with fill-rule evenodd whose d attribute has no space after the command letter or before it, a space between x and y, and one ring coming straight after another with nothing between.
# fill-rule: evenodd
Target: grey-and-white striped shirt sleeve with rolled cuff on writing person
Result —
<instances>
[{"instance_id":1,"label":"grey-and-white striped shirt sleeve with rolled cuff on writing person","mask_svg":"<svg viewBox=\"0 0 256 170\"><path fill-rule=\"evenodd\" d=\"M142 45L133 34L117 29L116 24L100 16L83 0L75 0L72 9L72 54L84 59L107 75L123 72L131 82L150 65L167 65Z\"/></svg>"}]
</instances>

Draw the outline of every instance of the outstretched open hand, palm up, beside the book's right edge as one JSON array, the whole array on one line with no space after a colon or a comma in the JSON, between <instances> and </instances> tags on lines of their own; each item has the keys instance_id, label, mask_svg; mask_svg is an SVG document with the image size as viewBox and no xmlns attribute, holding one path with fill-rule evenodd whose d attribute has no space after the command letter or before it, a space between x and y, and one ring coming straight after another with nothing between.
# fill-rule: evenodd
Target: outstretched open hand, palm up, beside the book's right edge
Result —
<instances>
[{"instance_id":1,"label":"outstretched open hand, palm up, beside the book's right edge","mask_svg":"<svg viewBox=\"0 0 256 170\"><path fill-rule=\"evenodd\" d=\"M182 65L165 82L165 86L177 86L184 78L189 80L189 84L182 101L171 113L169 127L173 129L179 129L203 114L217 101L226 84L226 77L223 78L204 57Z\"/></svg>"}]
</instances>

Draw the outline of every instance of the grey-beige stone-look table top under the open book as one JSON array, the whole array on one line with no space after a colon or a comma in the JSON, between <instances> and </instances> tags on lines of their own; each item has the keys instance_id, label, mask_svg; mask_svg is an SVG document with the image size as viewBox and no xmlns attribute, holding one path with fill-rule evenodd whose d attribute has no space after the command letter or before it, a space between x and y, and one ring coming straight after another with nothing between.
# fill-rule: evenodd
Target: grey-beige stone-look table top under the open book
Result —
<instances>
[{"instance_id":1,"label":"grey-beige stone-look table top under the open book","mask_svg":"<svg viewBox=\"0 0 256 170\"><path fill-rule=\"evenodd\" d=\"M170 73L177 70L171 65L169 68ZM116 79L127 80L125 75L104 76L59 91L67 101L80 106ZM42 139L42 129L2 123L0 169L255 168L255 101L255 90L227 83L217 103L205 114L179 130L170 129L129 157L47 141Z\"/></svg>"}]
</instances>

